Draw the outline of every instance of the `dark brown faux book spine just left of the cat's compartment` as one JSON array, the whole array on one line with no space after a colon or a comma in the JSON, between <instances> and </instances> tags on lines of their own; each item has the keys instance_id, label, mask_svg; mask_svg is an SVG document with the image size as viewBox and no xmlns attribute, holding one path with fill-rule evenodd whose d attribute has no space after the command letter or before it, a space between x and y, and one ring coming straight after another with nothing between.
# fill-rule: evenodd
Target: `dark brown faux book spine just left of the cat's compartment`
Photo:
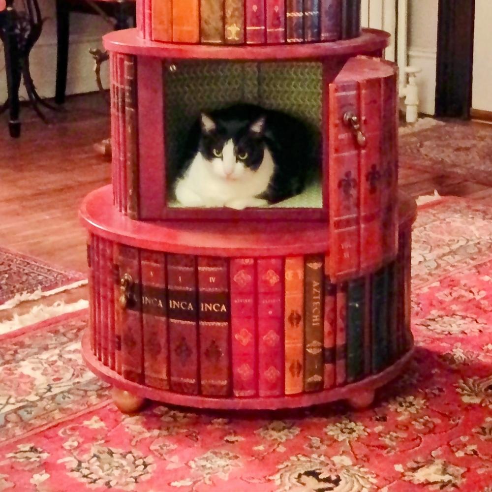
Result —
<instances>
[{"instance_id":1,"label":"dark brown faux book spine just left of the cat's compartment","mask_svg":"<svg viewBox=\"0 0 492 492\"><path fill-rule=\"evenodd\" d=\"M126 130L126 207L128 217L138 219L138 117L137 59L124 57L125 130Z\"/></svg>"}]
</instances>

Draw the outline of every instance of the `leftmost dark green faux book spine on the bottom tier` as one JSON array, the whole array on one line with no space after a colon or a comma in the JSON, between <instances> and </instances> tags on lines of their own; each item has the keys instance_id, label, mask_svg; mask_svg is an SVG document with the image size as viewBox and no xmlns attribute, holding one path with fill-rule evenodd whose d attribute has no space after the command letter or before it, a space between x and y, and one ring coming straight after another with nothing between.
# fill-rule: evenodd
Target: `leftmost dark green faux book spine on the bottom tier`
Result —
<instances>
[{"instance_id":1,"label":"leftmost dark green faux book spine on the bottom tier","mask_svg":"<svg viewBox=\"0 0 492 492\"><path fill-rule=\"evenodd\" d=\"M347 291L347 379L357 381L364 376L364 324L366 281L350 281Z\"/></svg>"}]
</instances>

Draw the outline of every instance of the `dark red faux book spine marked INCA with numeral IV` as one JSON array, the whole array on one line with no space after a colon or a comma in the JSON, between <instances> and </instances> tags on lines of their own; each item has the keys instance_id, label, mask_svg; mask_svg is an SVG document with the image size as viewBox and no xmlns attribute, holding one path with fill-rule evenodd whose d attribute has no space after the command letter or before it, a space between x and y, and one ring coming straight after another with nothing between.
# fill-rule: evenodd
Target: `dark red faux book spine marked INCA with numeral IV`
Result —
<instances>
[{"instance_id":1,"label":"dark red faux book spine marked INCA with numeral IV","mask_svg":"<svg viewBox=\"0 0 492 492\"><path fill-rule=\"evenodd\" d=\"M228 396L231 360L227 259L198 258L198 303L201 394Z\"/></svg>"}]
</instances>

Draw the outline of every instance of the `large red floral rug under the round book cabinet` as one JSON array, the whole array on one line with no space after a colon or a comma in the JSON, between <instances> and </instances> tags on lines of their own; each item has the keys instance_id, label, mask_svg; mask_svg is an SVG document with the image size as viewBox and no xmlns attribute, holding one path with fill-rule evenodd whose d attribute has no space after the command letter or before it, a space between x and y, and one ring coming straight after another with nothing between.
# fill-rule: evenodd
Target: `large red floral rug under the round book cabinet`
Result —
<instances>
[{"instance_id":1,"label":"large red floral rug under the round book cabinet","mask_svg":"<svg viewBox=\"0 0 492 492\"><path fill-rule=\"evenodd\" d=\"M414 241L416 355L363 411L125 416L85 312L0 339L0 490L492 492L492 208L430 204Z\"/></svg>"}]
</instances>

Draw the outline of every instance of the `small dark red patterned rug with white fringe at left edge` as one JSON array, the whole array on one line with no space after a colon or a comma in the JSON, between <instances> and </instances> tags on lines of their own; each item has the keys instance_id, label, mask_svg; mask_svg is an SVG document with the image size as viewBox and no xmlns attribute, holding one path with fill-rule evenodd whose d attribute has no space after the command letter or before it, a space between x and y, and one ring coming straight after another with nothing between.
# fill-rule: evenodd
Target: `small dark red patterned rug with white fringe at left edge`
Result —
<instances>
[{"instance_id":1,"label":"small dark red patterned rug with white fringe at left edge","mask_svg":"<svg viewBox=\"0 0 492 492\"><path fill-rule=\"evenodd\" d=\"M81 273L0 247L0 308L16 295L24 295L22 300L28 300L36 291L63 290L71 284L84 283L85 278Z\"/></svg>"}]
</instances>

